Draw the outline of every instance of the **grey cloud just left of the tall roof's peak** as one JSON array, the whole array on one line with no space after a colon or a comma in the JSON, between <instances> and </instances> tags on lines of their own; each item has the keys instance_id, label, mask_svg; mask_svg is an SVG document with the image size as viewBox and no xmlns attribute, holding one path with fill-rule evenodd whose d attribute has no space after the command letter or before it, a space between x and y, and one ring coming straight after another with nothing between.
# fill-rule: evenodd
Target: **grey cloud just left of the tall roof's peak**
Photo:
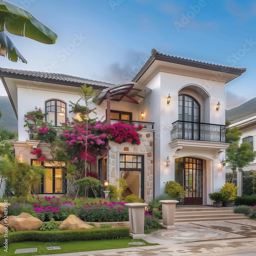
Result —
<instances>
[{"instance_id":1,"label":"grey cloud just left of the tall roof's peak","mask_svg":"<svg viewBox=\"0 0 256 256\"><path fill-rule=\"evenodd\" d=\"M124 61L116 61L106 66L100 79L111 83L131 81L149 57L149 53L127 50L124 56L120 57Z\"/></svg>"}]
</instances>

